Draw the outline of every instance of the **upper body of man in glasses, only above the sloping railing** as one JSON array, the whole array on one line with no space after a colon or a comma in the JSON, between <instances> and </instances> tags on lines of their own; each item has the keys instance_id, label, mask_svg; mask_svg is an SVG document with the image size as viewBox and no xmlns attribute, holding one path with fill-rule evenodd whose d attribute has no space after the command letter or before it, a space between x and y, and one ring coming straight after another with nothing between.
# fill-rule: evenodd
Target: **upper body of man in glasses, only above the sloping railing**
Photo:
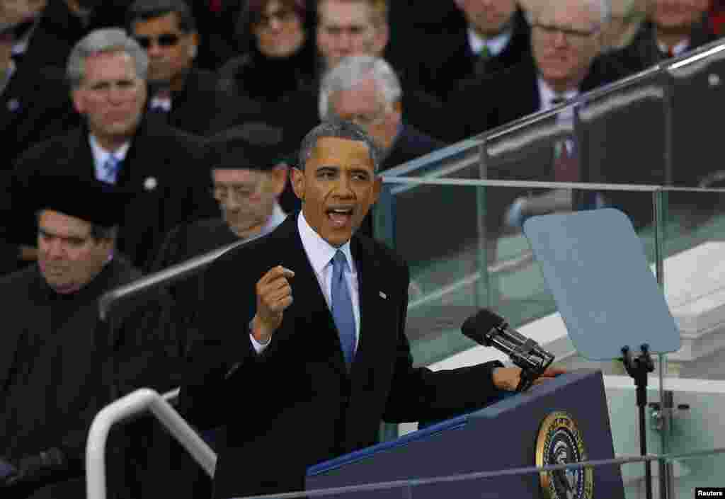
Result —
<instances>
[{"instance_id":1,"label":"upper body of man in glasses, only above the sloping railing","mask_svg":"<svg viewBox=\"0 0 725 499\"><path fill-rule=\"evenodd\" d=\"M615 57L600 56L608 12L605 0L531 2L527 16L533 57L495 76L466 81L452 93L457 121L468 117L453 139L548 110L624 77ZM461 113L473 102L481 103L479 112Z\"/></svg>"}]
</instances>

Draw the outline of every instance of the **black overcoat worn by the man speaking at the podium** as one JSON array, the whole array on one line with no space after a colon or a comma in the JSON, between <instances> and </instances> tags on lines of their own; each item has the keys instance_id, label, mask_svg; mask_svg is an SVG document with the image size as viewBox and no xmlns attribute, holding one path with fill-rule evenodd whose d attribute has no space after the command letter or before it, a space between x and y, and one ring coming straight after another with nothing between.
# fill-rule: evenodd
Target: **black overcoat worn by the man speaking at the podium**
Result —
<instances>
[{"instance_id":1,"label":"black overcoat worn by the man speaking at the podium","mask_svg":"<svg viewBox=\"0 0 725 499\"><path fill-rule=\"evenodd\" d=\"M407 265L365 236L353 236L351 244L361 316L351 373L297 216L210 268L201 324L206 342L191 355L193 374L180 402L199 426L228 425L215 498L299 490L306 466L375 443L381 418L442 418L479 408L494 394L491 371L498 363L437 373L413 368L404 332ZM275 265L295 272L294 302L257 355L247 326L254 285Z\"/></svg>"}]
</instances>

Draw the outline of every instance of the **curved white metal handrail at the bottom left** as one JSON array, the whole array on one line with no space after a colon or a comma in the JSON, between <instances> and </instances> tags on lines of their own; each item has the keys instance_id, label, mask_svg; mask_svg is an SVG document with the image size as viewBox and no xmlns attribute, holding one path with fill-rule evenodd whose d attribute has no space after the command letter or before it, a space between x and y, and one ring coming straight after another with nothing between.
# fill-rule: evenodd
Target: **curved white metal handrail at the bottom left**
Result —
<instances>
[{"instance_id":1,"label":"curved white metal handrail at the bottom left","mask_svg":"<svg viewBox=\"0 0 725 499\"><path fill-rule=\"evenodd\" d=\"M88 499L106 499L106 440L111 427L123 419L149 409L172 436L183 445L210 477L217 455L167 402L178 390L159 395L140 388L107 405L94 418L86 443L86 492Z\"/></svg>"}]
</instances>

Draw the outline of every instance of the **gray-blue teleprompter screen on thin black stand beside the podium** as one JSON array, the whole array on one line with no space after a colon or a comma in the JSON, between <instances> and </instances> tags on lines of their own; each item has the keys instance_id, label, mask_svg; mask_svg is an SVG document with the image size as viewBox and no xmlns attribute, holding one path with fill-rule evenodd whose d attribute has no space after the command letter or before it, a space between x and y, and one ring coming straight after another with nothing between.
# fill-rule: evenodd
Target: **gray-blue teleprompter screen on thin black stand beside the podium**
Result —
<instances>
[{"instance_id":1,"label":"gray-blue teleprompter screen on thin black stand beside the podium","mask_svg":"<svg viewBox=\"0 0 725 499\"><path fill-rule=\"evenodd\" d=\"M637 387L639 449L647 454L650 354L674 352L679 331L627 216L604 208L529 218L523 231L576 350L589 360L620 359ZM639 352L634 349L639 347ZM652 469L645 463L647 499ZM665 490L661 490L665 493Z\"/></svg>"}]
</instances>

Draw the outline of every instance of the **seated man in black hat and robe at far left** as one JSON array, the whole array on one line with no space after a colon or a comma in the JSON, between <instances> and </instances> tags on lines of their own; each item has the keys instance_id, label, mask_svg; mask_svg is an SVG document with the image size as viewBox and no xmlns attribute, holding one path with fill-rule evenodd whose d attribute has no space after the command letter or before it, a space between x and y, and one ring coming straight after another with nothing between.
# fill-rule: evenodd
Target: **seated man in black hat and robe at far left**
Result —
<instances>
[{"instance_id":1,"label":"seated man in black hat and robe at far left","mask_svg":"<svg viewBox=\"0 0 725 499\"><path fill-rule=\"evenodd\" d=\"M37 197L38 264L0 280L0 463L14 469L0 477L4 499L83 497L96 413L138 387L178 383L167 295L127 302L108 322L99 319L99 296L141 276L115 253L128 194L111 189L66 176L42 178L28 192ZM138 445L129 428L109 440L123 450L109 453L109 482L124 487L137 485L130 465L123 468L128 455L115 462ZM143 454L133 466L141 461Z\"/></svg>"}]
</instances>

